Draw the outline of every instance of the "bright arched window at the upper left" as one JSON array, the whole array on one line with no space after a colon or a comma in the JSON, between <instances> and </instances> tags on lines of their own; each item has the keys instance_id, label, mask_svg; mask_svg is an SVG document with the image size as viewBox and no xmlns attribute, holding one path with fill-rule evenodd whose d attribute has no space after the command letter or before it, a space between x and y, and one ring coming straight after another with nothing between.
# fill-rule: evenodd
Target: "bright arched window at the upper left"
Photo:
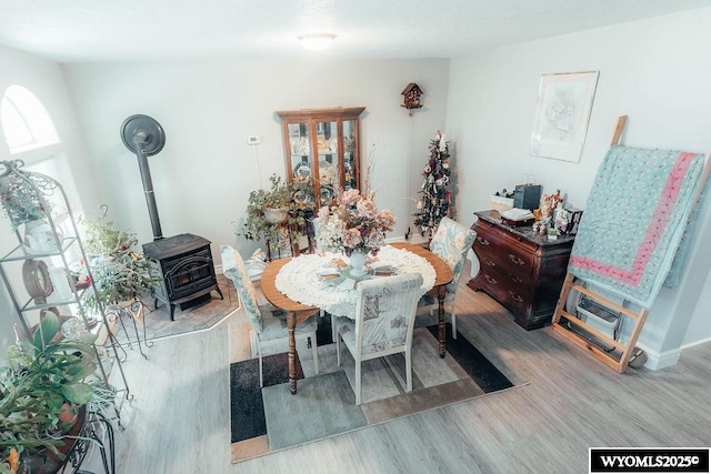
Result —
<instances>
[{"instance_id":1,"label":"bright arched window at the upper left","mask_svg":"<svg viewBox=\"0 0 711 474\"><path fill-rule=\"evenodd\" d=\"M47 109L22 85L10 85L4 91L0 122L11 154L59 143Z\"/></svg>"}]
</instances>

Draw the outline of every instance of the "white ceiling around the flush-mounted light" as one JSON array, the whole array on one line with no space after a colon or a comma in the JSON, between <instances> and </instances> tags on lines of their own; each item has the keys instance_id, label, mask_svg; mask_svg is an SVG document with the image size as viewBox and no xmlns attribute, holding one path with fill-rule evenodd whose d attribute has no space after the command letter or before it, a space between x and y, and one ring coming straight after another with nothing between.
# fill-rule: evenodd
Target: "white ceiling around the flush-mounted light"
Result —
<instances>
[{"instance_id":1,"label":"white ceiling around the flush-mounted light","mask_svg":"<svg viewBox=\"0 0 711 474\"><path fill-rule=\"evenodd\" d=\"M711 0L0 0L0 43L58 62L455 58ZM297 37L338 36L327 51Z\"/></svg>"}]
</instances>

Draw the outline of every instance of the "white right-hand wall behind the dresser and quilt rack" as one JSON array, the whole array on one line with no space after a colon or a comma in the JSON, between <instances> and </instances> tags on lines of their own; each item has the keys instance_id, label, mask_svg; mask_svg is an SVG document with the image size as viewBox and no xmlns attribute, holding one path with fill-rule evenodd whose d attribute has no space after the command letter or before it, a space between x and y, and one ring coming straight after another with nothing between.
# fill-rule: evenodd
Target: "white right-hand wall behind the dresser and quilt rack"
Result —
<instances>
[{"instance_id":1,"label":"white right-hand wall behind the dresser and quilt rack","mask_svg":"<svg viewBox=\"0 0 711 474\"><path fill-rule=\"evenodd\" d=\"M702 9L452 60L447 129L461 157L462 216L489 209L489 194L511 189L523 173L534 174L543 192L561 189L583 208L618 115L629 115L625 144L710 150L710 22L711 9ZM580 162L529 155L541 74L590 70L600 77ZM697 309L694 334L684 340L711 268L711 250L700 245L710 208L697 228L680 288L662 291L640 337L653 366L675 363L682 341L711 337L711 320L701 315L707 306Z\"/></svg>"}]
</instances>

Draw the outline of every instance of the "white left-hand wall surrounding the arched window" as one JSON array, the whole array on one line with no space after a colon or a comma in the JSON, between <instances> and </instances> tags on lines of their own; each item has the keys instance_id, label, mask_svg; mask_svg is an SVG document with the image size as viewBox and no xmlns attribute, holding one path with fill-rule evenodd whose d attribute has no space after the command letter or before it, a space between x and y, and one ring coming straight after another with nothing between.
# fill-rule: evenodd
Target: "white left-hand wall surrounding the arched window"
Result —
<instances>
[{"instance_id":1,"label":"white left-hand wall surrounding the arched window","mask_svg":"<svg viewBox=\"0 0 711 474\"><path fill-rule=\"evenodd\" d=\"M20 84L32 91L46 105L52 118L59 138L67 152L67 162L74 174L78 193L91 199L94 180L87 173L87 153L82 134L77 127L73 105L59 64L0 46L0 94L12 84ZM0 127L0 161L10 160L10 151ZM80 202L73 205L81 206ZM0 255L6 255L17 239L10 221L0 219ZM14 341L12 324L18 322L3 284L0 284L0 359L4 347Z\"/></svg>"}]
</instances>

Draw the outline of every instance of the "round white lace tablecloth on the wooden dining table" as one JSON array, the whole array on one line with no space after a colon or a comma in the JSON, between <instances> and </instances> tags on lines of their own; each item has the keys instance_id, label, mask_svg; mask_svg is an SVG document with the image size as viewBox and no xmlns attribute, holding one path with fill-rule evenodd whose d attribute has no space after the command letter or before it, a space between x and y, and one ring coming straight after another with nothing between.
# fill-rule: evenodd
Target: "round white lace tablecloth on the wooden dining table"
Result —
<instances>
[{"instance_id":1,"label":"round white lace tablecloth on the wooden dining table","mask_svg":"<svg viewBox=\"0 0 711 474\"><path fill-rule=\"evenodd\" d=\"M299 303L317 306L337 316L356 319L356 290L342 290L330 285L319 271L333 266L333 261L348 258L338 253L301 255L281 268L274 284L277 290ZM422 275L421 294L434 286L437 273L427 259L407 250L387 245L378 252L372 266L390 265L397 273L419 273ZM378 276L375 276L378 278Z\"/></svg>"}]
</instances>

